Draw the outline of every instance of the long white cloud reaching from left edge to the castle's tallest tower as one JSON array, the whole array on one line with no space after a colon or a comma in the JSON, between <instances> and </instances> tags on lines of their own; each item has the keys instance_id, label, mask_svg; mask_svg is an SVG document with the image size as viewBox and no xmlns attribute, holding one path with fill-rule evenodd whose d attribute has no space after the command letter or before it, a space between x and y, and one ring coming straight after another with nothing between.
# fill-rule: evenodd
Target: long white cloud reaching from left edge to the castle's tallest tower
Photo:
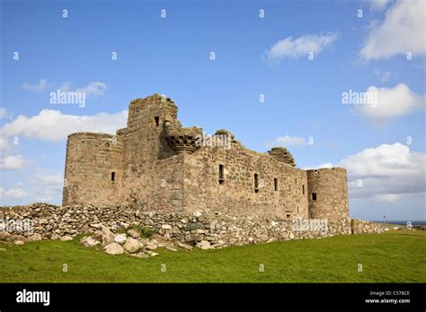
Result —
<instances>
[{"instance_id":1,"label":"long white cloud reaching from left edge to the castle's tallest tower","mask_svg":"<svg viewBox=\"0 0 426 312\"><path fill-rule=\"evenodd\" d=\"M0 128L0 137L24 136L49 142L65 140L75 132L98 132L115 134L117 129L126 126L128 111L93 116L65 115L58 110L43 109L39 115L20 115Z\"/></svg>"}]
</instances>

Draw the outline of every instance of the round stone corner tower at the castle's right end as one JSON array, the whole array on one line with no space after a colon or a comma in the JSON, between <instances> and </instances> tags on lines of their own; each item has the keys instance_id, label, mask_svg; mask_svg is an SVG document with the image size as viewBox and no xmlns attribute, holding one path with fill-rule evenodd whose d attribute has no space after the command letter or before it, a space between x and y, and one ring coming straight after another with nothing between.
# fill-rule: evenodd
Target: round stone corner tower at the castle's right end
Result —
<instances>
[{"instance_id":1,"label":"round stone corner tower at the castle's right end","mask_svg":"<svg viewBox=\"0 0 426 312\"><path fill-rule=\"evenodd\" d=\"M341 219L349 217L346 169L306 170L309 217Z\"/></svg>"}]
</instances>

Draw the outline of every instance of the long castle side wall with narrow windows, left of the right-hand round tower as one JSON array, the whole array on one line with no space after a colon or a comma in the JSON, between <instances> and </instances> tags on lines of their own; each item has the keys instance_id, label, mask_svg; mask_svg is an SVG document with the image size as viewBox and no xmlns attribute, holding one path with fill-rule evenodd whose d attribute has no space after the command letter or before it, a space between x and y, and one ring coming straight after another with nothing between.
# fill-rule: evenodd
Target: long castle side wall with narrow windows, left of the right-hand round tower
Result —
<instances>
[{"instance_id":1,"label":"long castle side wall with narrow windows, left of the right-hand round tower","mask_svg":"<svg viewBox=\"0 0 426 312\"><path fill-rule=\"evenodd\" d=\"M223 181L219 183L219 166ZM306 171L240 143L203 147L185 158L184 206L227 214L308 218ZM255 188L254 174L258 176Z\"/></svg>"}]
</instances>

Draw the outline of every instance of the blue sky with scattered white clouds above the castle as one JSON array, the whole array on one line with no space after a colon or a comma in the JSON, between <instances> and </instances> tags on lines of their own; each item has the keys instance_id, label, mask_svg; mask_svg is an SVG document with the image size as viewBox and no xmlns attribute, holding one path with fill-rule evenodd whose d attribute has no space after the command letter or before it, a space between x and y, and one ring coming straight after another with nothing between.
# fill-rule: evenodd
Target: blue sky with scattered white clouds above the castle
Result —
<instances>
[{"instance_id":1,"label":"blue sky with scattered white clouds above the castle","mask_svg":"<svg viewBox=\"0 0 426 312\"><path fill-rule=\"evenodd\" d=\"M3 0L0 204L59 204L68 132L124 127L130 100L160 93L184 126L347 168L354 217L425 220L424 5ZM84 108L50 104L58 89ZM349 90L377 107L342 104Z\"/></svg>"}]
</instances>

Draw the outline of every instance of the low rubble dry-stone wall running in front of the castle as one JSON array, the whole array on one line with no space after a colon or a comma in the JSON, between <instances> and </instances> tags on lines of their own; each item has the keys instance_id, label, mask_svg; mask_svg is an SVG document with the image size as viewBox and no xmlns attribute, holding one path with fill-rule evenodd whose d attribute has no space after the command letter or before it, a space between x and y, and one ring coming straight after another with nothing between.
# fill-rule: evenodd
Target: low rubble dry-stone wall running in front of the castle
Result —
<instances>
[{"instance_id":1,"label":"low rubble dry-stone wall running in front of the castle","mask_svg":"<svg viewBox=\"0 0 426 312\"><path fill-rule=\"evenodd\" d=\"M32 231L12 229L13 221L31 223ZM2 221L10 229L2 227ZM192 214L144 212L129 206L31 204L0 207L0 239L39 240L75 237L106 226L112 230L138 225L164 238L195 245L208 241L212 247L240 246L299 238L324 238L342 234L381 233L381 225L348 218L334 220L282 219L230 216L221 212Z\"/></svg>"}]
</instances>

